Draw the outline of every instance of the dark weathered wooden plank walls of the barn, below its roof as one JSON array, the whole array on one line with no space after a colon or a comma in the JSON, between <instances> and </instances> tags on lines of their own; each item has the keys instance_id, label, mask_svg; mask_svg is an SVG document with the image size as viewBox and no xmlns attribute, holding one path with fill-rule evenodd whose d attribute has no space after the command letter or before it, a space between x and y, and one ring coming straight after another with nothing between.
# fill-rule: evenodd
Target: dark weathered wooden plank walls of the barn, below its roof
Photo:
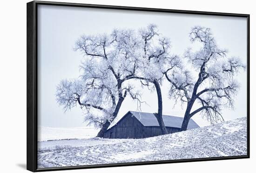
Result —
<instances>
[{"instance_id":1,"label":"dark weathered wooden plank walls of the barn, below its roof","mask_svg":"<svg viewBox=\"0 0 256 173\"><path fill-rule=\"evenodd\" d=\"M166 127L168 133L175 133L179 131L179 128ZM111 134L112 133L112 134ZM110 137L111 134L111 137ZM109 129L104 138L119 138L119 139L139 139L148 138L153 136L162 135L162 131L159 126L143 126L134 116L128 114L115 126Z\"/></svg>"}]
</instances>

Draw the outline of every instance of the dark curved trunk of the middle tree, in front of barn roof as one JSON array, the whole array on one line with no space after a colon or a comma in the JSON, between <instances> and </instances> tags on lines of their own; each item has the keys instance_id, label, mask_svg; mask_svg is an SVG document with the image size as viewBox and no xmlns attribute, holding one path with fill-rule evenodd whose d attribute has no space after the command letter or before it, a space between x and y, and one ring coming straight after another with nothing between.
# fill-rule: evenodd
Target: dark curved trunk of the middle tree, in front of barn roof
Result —
<instances>
[{"instance_id":1,"label":"dark curved trunk of the middle tree, in front of barn roof","mask_svg":"<svg viewBox=\"0 0 256 173\"><path fill-rule=\"evenodd\" d=\"M159 123L159 126L161 128L162 134L168 134L167 129L164 125L164 122L162 120L162 93L161 93L161 87L157 80L154 80L154 85L157 93L157 100L158 100L158 112L154 113L156 120Z\"/></svg>"}]
</instances>

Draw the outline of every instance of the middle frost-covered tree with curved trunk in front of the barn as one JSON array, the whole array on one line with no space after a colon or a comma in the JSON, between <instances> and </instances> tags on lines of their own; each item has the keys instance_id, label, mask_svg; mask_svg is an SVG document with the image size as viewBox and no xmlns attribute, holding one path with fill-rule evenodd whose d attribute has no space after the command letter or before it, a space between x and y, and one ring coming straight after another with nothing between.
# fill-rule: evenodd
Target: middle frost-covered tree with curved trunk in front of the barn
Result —
<instances>
[{"instance_id":1,"label":"middle frost-covered tree with curved trunk in front of the barn","mask_svg":"<svg viewBox=\"0 0 256 173\"><path fill-rule=\"evenodd\" d=\"M148 87L148 89L153 85L150 90L156 91L158 103L158 111L154 115L162 134L167 134L168 132L162 119L162 92L160 86L164 72L170 67L179 67L180 61L177 56L171 55L169 39L162 37L155 25L142 28L139 33L143 48L143 55L139 63L140 70L136 71L134 75L130 75L131 78L141 80L141 85Z\"/></svg>"}]
</instances>

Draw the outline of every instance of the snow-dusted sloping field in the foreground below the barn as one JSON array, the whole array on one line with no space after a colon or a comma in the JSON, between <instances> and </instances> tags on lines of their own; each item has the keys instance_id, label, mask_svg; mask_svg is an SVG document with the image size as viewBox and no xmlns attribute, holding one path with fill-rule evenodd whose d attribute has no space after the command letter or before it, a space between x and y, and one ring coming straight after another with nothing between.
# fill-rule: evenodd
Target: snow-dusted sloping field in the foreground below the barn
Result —
<instances>
[{"instance_id":1,"label":"snow-dusted sloping field in the foreground below the barn","mask_svg":"<svg viewBox=\"0 0 256 173\"><path fill-rule=\"evenodd\" d=\"M246 118L146 139L38 142L39 167L177 160L247 154Z\"/></svg>"}]
</instances>

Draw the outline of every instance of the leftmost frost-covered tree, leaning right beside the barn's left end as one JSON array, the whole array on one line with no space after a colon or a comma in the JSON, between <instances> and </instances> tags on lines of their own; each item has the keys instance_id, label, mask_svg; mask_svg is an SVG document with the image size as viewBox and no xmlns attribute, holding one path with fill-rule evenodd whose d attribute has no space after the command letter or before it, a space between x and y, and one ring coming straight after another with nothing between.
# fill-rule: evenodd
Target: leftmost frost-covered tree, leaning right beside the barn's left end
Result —
<instances>
[{"instance_id":1,"label":"leftmost frost-covered tree, leaning right beside the barn's left end","mask_svg":"<svg viewBox=\"0 0 256 173\"><path fill-rule=\"evenodd\" d=\"M98 137L103 137L128 94L140 101L134 87L123 86L128 72L137 70L138 41L132 30L81 36L75 50L84 55L82 75L78 80L64 80L57 87L58 103L65 111L79 104L85 121L101 128Z\"/></svg>"}]
</instances>

